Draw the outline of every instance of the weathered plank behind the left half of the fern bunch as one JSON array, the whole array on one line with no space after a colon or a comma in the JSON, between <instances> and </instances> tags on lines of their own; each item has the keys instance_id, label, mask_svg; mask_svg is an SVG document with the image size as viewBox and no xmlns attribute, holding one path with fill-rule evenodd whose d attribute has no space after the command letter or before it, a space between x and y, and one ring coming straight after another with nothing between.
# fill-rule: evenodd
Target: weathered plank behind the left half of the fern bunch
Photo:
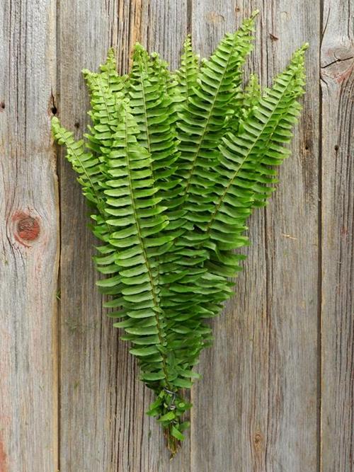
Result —
<instances>
[{"instance_id":1,"label":"weathered plank behind the left half of the fern bunch","mask_svg":"<svg viewBox=\"0 0 354 472\"><path fill-rule=\"evenodd\" d=\"M96 69L108 47L127 71L137 40L166 59L179 52L185 1L76 1L59 5L59 115L81 136L88 108L83 67ZM78 27L78 25L80 25ZM159 35L164 25L164 35ZM152 395L138 380L127 343L105 318L95 287L86 204L67 163L60 166L62 209L60 470L188 471L189 445L169 466L163 434L144 412Z\"/></svg>"}]
</instances>

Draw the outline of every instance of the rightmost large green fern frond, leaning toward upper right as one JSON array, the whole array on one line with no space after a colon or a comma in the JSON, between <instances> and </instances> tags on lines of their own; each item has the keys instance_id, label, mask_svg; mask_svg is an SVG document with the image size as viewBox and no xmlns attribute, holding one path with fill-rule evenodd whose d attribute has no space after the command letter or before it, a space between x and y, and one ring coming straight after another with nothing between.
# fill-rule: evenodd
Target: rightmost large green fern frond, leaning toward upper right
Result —
<instances>
[{"instance_id":1,"label":"rightmost large green fern frond, leaning toward upper right","mask_svg":"<svg viewBox=\"0 0 354 472\"><path fill-rule=\"evenodd\" d=\"M289 67L265 91L239 133L229 132L222 138L222 158L215 177L209 176L215 184L210 212L203 212L197 222L219 249L244 245L244 236L239 238L239 219L244 219L251 207L263 205L273 190L263 185L276 182L275 170L268 165L278 166L289 155L283 145L292 137L291 129L300 109L297 98L302 95L303 86L304 48L294 54ZM198 188L191 190L197 192Z\"/></svg>"}]
</instances>

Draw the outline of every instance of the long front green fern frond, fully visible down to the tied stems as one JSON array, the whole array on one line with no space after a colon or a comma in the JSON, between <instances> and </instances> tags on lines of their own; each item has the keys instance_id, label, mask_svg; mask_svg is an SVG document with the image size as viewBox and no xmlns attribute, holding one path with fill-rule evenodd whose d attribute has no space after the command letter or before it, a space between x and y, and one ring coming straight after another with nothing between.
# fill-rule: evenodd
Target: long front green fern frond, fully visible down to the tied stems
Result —
<instances>
[{"instance_id":1,"label":"long front green fern frond, fully visible down to the tied stems","mask_svg":"<svg viewBox=\"0 0 354 472\"><path fill-rule=\"evenodd\" d=\"M150 154L137 142L138 128L127 105L123 102L121 106L121 120L108 159L112 179L105 190L106 212L112 214L107 223L118 230L110 235L109 242L118 248L115 264L120 267L119 282L123 285L123 321L115 326L125 329L127 334L122 339L133 345L130 352L139 358L141 379L158 395L175 396L182 385L166 334L168 321L161 309L158 263L173 236L164 234L169 221L164 215L166 208L159 206L161 199L155 196ZM101 281L101 287L106 281ZM170 413L166 421L174 428L178 427L178 417L189 408L178 398L180 406L173 412L173 423L165 403L157 409L160 421Z\"/></svg>"}]
</instances>

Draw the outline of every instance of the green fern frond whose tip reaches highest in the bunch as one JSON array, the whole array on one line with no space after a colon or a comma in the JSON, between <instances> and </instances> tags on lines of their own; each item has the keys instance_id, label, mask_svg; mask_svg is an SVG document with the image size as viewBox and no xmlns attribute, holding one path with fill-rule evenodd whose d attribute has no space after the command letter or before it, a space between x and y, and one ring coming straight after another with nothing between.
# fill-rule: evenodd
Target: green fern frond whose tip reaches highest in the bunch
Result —
<instances>
[{"instance_id":1,"label":"green fern frond whose tip reaches highest in the bunch","mask_svg":"<svg viewBox=\"0 0 354 472\"><path fill-rule=\"evenodd\" d=\"M227 34L209 60L202 63L198 85L190 94L188 108L179 115L181 139L179 175L184 183L184 196L195 182L195 168L215 164L218 141L227 125L225 108L241 84L242 65L251 52L253 18L244 21L234 34Z\"/></svg>"}]
</instances>

